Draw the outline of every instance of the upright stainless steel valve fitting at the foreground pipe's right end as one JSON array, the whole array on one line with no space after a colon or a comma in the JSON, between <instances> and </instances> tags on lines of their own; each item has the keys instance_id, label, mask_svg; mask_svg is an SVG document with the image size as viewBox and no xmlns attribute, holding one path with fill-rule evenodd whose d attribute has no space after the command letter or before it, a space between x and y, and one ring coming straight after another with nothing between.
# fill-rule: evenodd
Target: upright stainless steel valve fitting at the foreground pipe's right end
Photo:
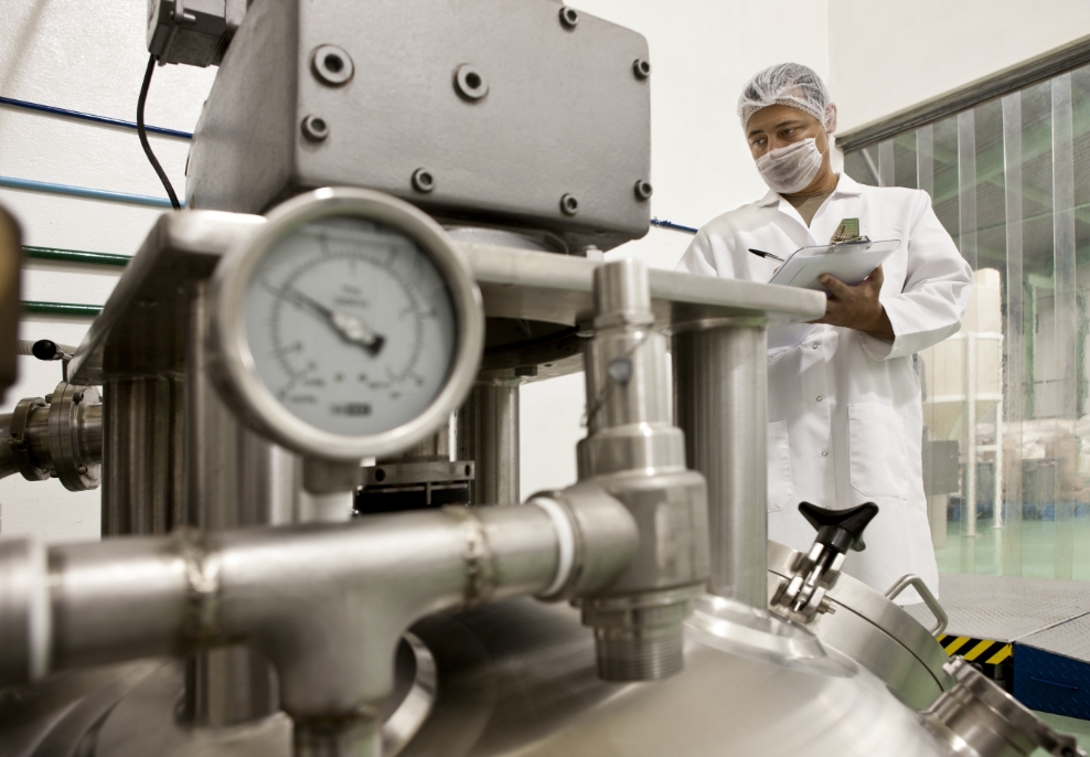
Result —
<instances>
[{"instance_id":1,"label":"upright stainless steel valve fitting at the foreground pipe's right end","mask_svg":"<svg viewBox=\"0 0 1090 757\"><path fill-rule=\"evenodd\" d=\"M670 423L666 345L643 263L595 270L594 326L579 480L623 503L641 540L609 590L581 600L583 619L595 629L599 675L662 679L682 670L682 622L707 578L707 493L685 469L685 440Z\"/></svg>"}]
</instances>

